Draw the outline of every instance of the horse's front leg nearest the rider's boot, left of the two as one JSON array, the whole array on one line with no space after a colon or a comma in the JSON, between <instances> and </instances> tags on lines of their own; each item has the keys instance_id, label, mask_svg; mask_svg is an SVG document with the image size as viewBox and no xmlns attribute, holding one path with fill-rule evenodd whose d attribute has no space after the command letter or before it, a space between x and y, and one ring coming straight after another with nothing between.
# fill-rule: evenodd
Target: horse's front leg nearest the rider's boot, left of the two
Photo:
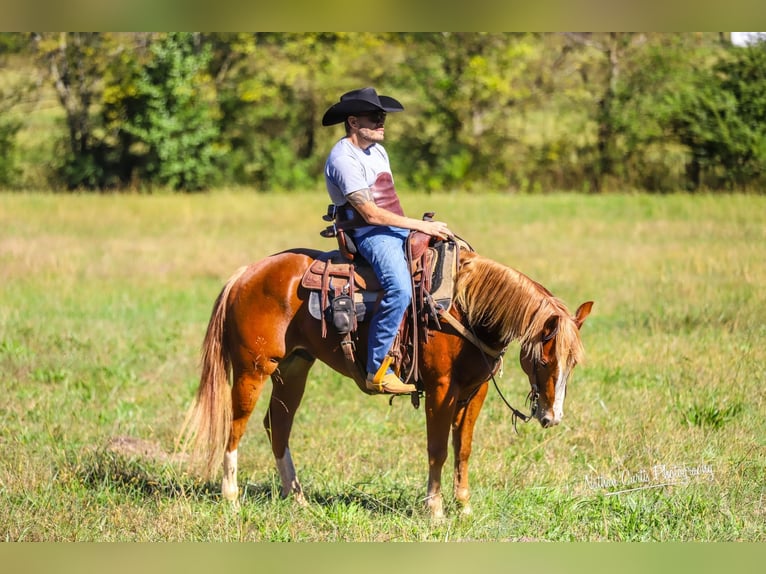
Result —
<instances>
[{"instance_id":1,"label":"horse's front leg nearest the rider's boot, left of the two","mask_svg":"<svg viewBox=\"0 0 766 574\"><path fill-rule=\"evenodd\" d=\"M426 428L428 437L428 491L426 508L431 518L444 518L441 477L447 460L450 423L455 411L455 399L449 382L441 382L433 392L426 393Z\"/></svg>"}]
</instances>

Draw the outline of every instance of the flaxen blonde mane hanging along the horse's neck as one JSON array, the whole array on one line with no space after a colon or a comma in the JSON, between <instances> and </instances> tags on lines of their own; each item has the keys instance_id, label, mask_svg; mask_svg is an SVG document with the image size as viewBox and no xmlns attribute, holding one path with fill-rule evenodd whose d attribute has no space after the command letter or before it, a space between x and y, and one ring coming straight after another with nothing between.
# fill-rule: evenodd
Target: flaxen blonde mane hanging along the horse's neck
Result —
<instances>
[{"instance_id":1,"label":"flaxen blonde mane hanging along the horse's neck","mask_svg":"<svg viewBox=\"0 0 766 574\"><path fill-rule=\"evenodd\" d=\"M455 302L471 326L492 332L503 347L518 339L522 349L539 360L545 323L558 315L559 364L572 368L582 360L580 331L560 299L515 269L480 255L461 256Z\"/></svg>"}]
</instances>

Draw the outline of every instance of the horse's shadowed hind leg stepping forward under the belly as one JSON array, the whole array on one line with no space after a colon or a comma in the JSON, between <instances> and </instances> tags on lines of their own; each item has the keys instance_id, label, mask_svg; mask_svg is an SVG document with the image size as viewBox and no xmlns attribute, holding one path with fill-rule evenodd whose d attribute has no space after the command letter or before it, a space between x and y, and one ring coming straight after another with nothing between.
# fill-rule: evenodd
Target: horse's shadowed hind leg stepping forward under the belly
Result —
<instances>
[{"instance_id":1,"label":"horse's shadowed hind leg stepping forward under the belly","mask_svg":"<svg viewBox=\"0 0 766 574\"><path fill-rule=\"evenodd\" d=\"M271 402L263 419L282 482L282 497L293 495L302 504L306 500L290 455L289 442L295 413L306 389L306 377L313 364L314 358L301 351L291 354L279 363L272 375L274 384Z\"/></svg>"}]
</instances>

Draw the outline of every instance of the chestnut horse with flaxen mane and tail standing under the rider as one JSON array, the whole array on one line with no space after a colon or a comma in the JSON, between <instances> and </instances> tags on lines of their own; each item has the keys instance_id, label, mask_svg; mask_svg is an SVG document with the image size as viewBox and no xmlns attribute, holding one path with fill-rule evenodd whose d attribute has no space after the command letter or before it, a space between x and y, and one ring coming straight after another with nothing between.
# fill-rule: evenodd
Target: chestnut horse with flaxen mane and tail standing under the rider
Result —
<instances>
[{"instance_id":1,"label":"chestnut horse with flaxen mane and tail standing under the rider","mask_svg":"<svg viewBox=\"0 0 766 574\"><path fill-rule=\"evenodd\" d=\"M290 455L293 419L315 360L352 377L339 335L321 335L308 310L301 278L320 251L293 249L239 269L213 307L202 348L202 373L182 443L192 460L206 462L206 476L223 459L222 495L238 501L237 447L270 377L271 402L264 426L279 471L283 497L305 504ZM428 490L433 518L444 516L441 474L450 430L454 448L454 496L470 514L468 458L488 381L513 340L534 395L531 416L552 427L564 414L564 396L583 349L579 329L592 302L571 316L547 289L518 271L461 250L449 321L419 343L419 372L426 404ZM365 356L367 324L359 325L358 352ZM469 340L470 339L470 340ZM230 385L230 378L233 381ZM369 394L364 386L357 383Z\"/></svg>"}]
</instances>

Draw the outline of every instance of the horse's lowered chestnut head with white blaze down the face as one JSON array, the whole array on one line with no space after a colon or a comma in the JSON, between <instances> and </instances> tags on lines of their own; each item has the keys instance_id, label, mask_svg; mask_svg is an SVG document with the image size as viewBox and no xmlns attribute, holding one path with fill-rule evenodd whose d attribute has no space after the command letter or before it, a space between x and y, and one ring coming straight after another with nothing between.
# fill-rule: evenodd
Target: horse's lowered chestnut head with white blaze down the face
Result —
<instances>
[{"instance_id":1,"label":"horse's lowered chestnut head with white blaze down the face","mask_svg":"<svg viewBox=\"0 0 766 574\"><path fill-rule=\"evenodd\" d=\"M592 301L583 303L571 318L577 331L582 327L592 307ZM566 336L567 330L567 326L562 322L569 320L569 317L553 315L546 321L540 335L542 349L539 356L533 356L528 349L521 350L521 368L529 377L532 416L540 421L543 428L559 424L564 417L567 380L576 364L576 361L570 360L569 353L562 353L562 347L566 351L567 345L562 345L562 341L559 341L561 337ZM562 354L566 356L561 356Z\"/></svg>"}]
</instances>

